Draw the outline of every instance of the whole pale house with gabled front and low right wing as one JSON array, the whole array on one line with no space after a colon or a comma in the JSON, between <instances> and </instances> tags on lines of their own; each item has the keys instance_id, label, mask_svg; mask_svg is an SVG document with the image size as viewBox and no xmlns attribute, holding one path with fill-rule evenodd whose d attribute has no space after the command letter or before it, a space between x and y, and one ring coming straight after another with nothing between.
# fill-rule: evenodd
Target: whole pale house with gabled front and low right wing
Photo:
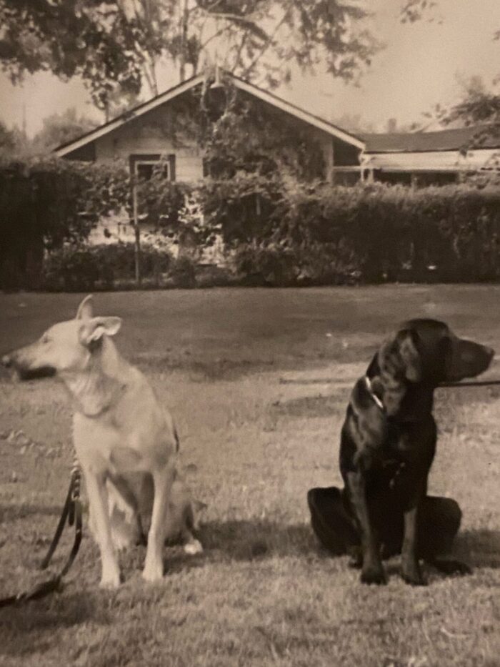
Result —
<instances>
[{"instance_id":1,"label":"whole pale house with gabled front and low right wing","mask_svg":"<svg viewBox=\"0 0 500 667\"><path fill-rule=\"evenodd\" d=\"M496 168L500 139L486 139L480 148L464 150L477 128L358 136L229 72L222 74L220 85L219 79L216 84L231 87L243 99L259 105L267 117L278 119L291 145L299 140L306 144L309 155L320 165L316 176L332 184L353 184L360 179L443 184L459 179L464 172ZM200 92L210 87L214 84L210 86L204 74L193 76L63 144L55 153L94 162L126 159L131 172L144 178L161 161L169 179L199 181L204 177L205 165L193 109L199 107ZM129 240L132 235L125 214L115 220L111 233L106 231L111 241L116 237Z\"/></svg>"}]
</instances>

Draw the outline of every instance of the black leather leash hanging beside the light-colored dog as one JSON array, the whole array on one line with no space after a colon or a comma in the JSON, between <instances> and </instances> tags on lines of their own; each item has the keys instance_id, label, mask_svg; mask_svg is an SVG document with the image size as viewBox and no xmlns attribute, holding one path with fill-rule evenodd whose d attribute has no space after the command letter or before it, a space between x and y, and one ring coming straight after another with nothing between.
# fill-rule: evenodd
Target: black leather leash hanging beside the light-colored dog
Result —
<instances>
[{"instance_id":1,"label":"black leather leash hanging beside the light-colored dog","mask_svg":"<svg viewBox=\"0 0 500 667\"><path fill-rule=\"evenodd\" d=\"M62 579L68 573L69 568L73 565L76 554L80 548L81 535L82 535L82 520L81 520L81 500L80 500L80 483L81 483L81 473L79 466L74 465L71 470L71 480L69 482L68 494L66 495L66 502L64 503L64 508L62 510L61 518L54 533L54 538L52 538L51 545L49 550L46 553L44 560L41 561L40 569L45 570L50 563L54 551L57 548L59 540L61 539L62 532L66 523L68 525L74 525L75 527L75 536L73 547L71 552L64 563L64 567L61 572L42 583L36 584L34 588L31 588L29 591L22 591L17 593L14 596L9 596L7 598L0 599L0 608L9 607L11 605L19 605L21 603L27 602L29 600L39 600L48 596L49 593L54 593L54 591L62 590Z\"/></svg>"}]
</instances>

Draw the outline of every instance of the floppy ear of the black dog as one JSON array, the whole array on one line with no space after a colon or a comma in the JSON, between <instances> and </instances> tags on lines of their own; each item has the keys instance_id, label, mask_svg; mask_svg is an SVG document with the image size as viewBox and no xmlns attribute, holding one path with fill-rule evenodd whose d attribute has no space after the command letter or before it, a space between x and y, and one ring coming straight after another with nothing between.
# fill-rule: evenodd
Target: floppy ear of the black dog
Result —
<instances>
[{"instance_id":1,"label":"floppy ear of the black dog","mask_svg":"<svg viewBox=\"0 0 500 667\"><path fill-rule=\"evenodd\" d=\"M394 377L405 377L410 382L420 382L422 361L417 348L418 334L411 328L401 329L396 337L386 342L379 351L382 372Z\"/></svg>"}]
</instances>

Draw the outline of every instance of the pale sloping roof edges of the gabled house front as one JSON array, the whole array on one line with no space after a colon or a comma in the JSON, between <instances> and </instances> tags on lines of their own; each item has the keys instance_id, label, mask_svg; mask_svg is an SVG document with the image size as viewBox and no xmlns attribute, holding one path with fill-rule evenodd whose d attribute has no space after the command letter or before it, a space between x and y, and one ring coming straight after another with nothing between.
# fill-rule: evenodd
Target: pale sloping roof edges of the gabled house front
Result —
<instances>
[{"instance_id":1,"label":"pale sloping roof edges of the gabled house front","mask_svg":"<svg viewBox=\"0 0 500 667\"><path fill-rule=\"evenodd\" d=\"M192 76L191 79L183 81L182 83L177 84L173 88L170 88L169 90L166 90L165 92L156 95L156 97L153 97L148 102L143 102L143 104L139 104L139 106L135 107L134 109L131 109L128 112L125 112L124 114L121 114L121 116L118 116L112 119L111 121L104 123L103 125L99 125L99 127L96 127L96 129L92 129L90 132L82 134L81 137L78 137L77 139L72 139L71 142L66 142L65 144L61 144L61 146L54 149L54 152L59 157L64 157L65 155L74 152L76 149L79 149L85 146L86 144L94 142L96 139L99 139L99 137L103 137L105 134L113 132L114 129L118 129L122 125L129 123L136 118L141 117L147 112L150 112L152 109L156 109L156 107L161 106L161 104L169 102L171 99L174 99L174 97L178 97L184 92L191 90L196 86L199 86L200 84L203 83L204 78L205 78L204 74L197 74L196 76ZM244 92L249 93L254 97L258 97L263 102L267 102L268 104L271 104L273 107L281 109L281 111L287 114L291 114L292 116L306 123L309 123L310 125L318 129L323 130L327 134L331 134L332 137L340 139L341 141L346 142L347 144L351 144L351 146L354 146L356 148L364 149L365 144L362 139L356 137L356 135L351 134L350 132L346 132L345 130L336 127L336 125L334 125L333 123L321 119L319 116L315 116L314 114L307 112L305 109L296 107L295 104L286 102L286 100L281 99L281 97L278 97L273 93L267 92L259 88L258 86L255 86L254 84L249 84L247 81L244 81L244 79L240 79L239 76L234 76L234 74L225 71L224 78L229 79L231 83L234 85L234 87L243 90Z\"/></svg>"}]
</instances>

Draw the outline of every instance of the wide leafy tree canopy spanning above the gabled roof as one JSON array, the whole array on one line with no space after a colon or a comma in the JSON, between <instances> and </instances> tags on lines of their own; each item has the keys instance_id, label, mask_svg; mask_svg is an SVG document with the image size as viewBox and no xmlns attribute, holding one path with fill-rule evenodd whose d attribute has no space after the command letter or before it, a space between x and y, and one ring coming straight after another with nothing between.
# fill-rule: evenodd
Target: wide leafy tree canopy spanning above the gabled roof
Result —
<instances>
[{"instance_id":1,"label":"wide leafy tree canopy spanning above the gabled roof","mask_svg":"<svg viewBox=\"0 0 500 667\"><path fill-rule=\"evenodd\" d=\"M292 63L352 79L377 47L365 16L358 0L0 0L0 60L13 81L81 76L105 109L117 86L156 94L160 62L181 80L215 59L269 86Z\"/></svg>"}]
</instances>

